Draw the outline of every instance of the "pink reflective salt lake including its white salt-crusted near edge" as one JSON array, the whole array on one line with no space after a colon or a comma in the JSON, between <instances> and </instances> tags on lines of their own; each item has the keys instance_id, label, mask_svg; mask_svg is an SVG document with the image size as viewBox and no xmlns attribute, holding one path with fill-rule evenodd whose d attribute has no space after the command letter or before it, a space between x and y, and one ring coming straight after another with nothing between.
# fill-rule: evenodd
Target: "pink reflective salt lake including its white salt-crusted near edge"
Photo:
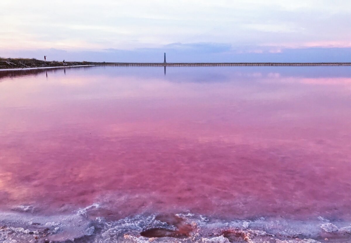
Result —
<instances>
[{"instance_id":1,"label":"pink reflective salt lake including its white salt-crusted near edge","mask_svg":"<svg viewBox=\"0 0 351 243\"><path fill-rule=\"evenodd\" d=\"M351 242L350 104L350 67L1 71L0 242Z\"/></svg>"}]
</instances>

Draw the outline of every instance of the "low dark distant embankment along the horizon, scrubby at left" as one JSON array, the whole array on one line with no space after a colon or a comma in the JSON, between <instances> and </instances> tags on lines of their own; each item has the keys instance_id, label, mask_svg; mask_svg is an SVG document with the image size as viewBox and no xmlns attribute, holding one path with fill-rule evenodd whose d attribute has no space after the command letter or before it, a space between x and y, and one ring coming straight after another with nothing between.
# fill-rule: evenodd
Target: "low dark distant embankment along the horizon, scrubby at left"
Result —
<instances>
[{"instance_id":1,"label":"low dark distant embankment along the horizon, scrubby at left","mask_svg":"<svg viewBox=\"0 0 351 243\"><path fill-rule=\"evenodd\" d=\"M0 58L0 69L61 67L81 65L106 66L351 66L351 63L97 63L89 61L42 61L25 58Z\"/></svg>"}]
</instances>

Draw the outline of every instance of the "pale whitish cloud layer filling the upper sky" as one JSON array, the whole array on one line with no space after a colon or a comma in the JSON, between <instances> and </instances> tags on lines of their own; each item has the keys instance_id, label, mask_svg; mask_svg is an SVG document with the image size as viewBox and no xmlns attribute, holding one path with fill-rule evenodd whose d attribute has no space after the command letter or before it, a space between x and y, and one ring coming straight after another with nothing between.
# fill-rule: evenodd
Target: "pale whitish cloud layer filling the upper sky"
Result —
<instances>
[{"instance_id":1,"label":"pale whitish cloud layer filling the upper sky","mask_svg":"<svg viewBox=\"0 0 351 243\"><path fill-rule=\"evenodd\" d=\"M175 48L177 43L185 48L184 43L201 42L212 48L214 43L350 47L350 9L350 1L326 0L1 1L0 46L69 51Z\"/></svg>"}]
</instances>

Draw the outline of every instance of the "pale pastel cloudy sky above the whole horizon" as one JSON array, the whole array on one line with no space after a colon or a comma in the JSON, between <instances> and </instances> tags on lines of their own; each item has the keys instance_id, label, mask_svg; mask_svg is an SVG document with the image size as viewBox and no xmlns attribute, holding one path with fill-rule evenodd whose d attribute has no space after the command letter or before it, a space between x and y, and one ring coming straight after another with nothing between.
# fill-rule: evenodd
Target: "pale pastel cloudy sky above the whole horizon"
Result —
<instances>
[{"instance_id":1,"label":"pale pastel cloudy sky above the whole horizon","mask_svg":"<svg viewBox=\"0 0 351 243\"><path fill-rule=\"evenodd\" d=\"M0 57L351 61L349 0L0 1Z\"/></svg>"}]
</instances>

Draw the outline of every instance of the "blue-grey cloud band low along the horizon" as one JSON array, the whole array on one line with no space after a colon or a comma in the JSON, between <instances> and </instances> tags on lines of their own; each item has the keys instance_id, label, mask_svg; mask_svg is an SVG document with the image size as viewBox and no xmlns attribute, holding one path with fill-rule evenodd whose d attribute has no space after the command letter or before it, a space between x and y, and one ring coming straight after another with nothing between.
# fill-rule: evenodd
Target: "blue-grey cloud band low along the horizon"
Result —
<instances>
[{"instance_id":1,"label":"blue-grey cloud band low along the horizon","mask_svg":"<svg viewBox=\"0 0 351 243\"><path fill-rule=\"evenodd\" d=\"M349 62L351 48L273 48L270 46L233 47L225 43L173 43L158 48L96 51L67 51L55 48L37 50L0 50L4 57L24 57L61 61L106 61L162 63L178 62Z\"/></svg>"}]
</instances>

